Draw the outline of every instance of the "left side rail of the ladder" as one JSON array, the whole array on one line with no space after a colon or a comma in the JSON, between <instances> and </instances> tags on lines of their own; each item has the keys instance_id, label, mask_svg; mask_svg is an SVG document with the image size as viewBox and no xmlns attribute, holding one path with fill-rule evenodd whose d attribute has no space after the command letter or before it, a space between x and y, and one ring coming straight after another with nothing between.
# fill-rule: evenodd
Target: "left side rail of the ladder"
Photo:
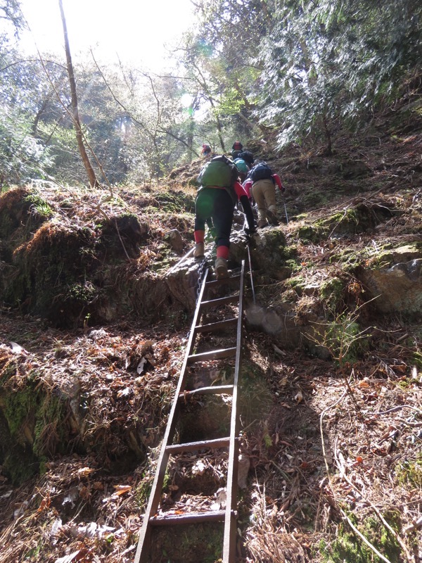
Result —
<instances>
[{"instance_id":1,"label":"left side rail of the ladder","mask_svg":"<svg viewBox=\"0 0 422 563\"><path fill-rule=\"evenodd\" d=\"M153 487L151 488L150 498L148 501L148 506L146 512L143 515L142 528L139 533L138 547L136 548L136 555L134 563L147 563L148 562L148 551L150 547L151 540L151 525L150 519L157 512L158 505L160 504L160 498L162 493L162 483L165 478L165 470L167 469L167 463L169 461L170 454L166 452L167 445L173 439L174 431L177 423L177 413L179 411L179 395L184 391L186 386L186 367L188 365L188 358L191 355L193 346L196 339L195 327L198 324L200 315L202 314L200 303L203 300L205 293L205 284L208 277L209 268L205 271L205 276L203 278L203 283L200 288L200 293L198 295L198 302L196 304L196 310L193 315L193 322L191 324L191 332L189 334L188 343L186 346L186 353L184 356L184 362L181 366L179 382L177 384L176 393L174 394L174 400L172 403L172 408L170 410L170 415L167 420L167 427L165 430L164 438L162 439L162 445L160 450L160 457L157 462L157 469L155 470L155 477L153 481Z\"/></svg>"}]
</instances>

